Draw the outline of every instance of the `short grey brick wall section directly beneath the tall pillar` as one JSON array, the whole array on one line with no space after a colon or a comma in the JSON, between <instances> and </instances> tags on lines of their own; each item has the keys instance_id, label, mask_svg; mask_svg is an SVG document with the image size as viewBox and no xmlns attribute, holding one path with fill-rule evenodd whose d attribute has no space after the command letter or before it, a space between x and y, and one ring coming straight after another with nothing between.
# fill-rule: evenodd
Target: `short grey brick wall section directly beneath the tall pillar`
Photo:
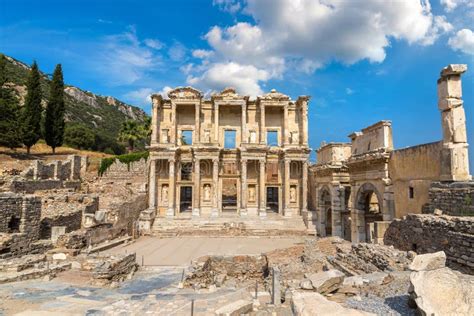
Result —
<instances>
[{"instance_id":1,"label":"short grey brick wall section directly beneath the tall pillar","mask_svg":"<svg viewBox=\"0 0 474 316\"><path fill-rule=\"evenodd\" d=\"M440 209L446 215L474 216L474 182L434 182L428 195L423 213Z\"/></svg>"}]
</instances>

